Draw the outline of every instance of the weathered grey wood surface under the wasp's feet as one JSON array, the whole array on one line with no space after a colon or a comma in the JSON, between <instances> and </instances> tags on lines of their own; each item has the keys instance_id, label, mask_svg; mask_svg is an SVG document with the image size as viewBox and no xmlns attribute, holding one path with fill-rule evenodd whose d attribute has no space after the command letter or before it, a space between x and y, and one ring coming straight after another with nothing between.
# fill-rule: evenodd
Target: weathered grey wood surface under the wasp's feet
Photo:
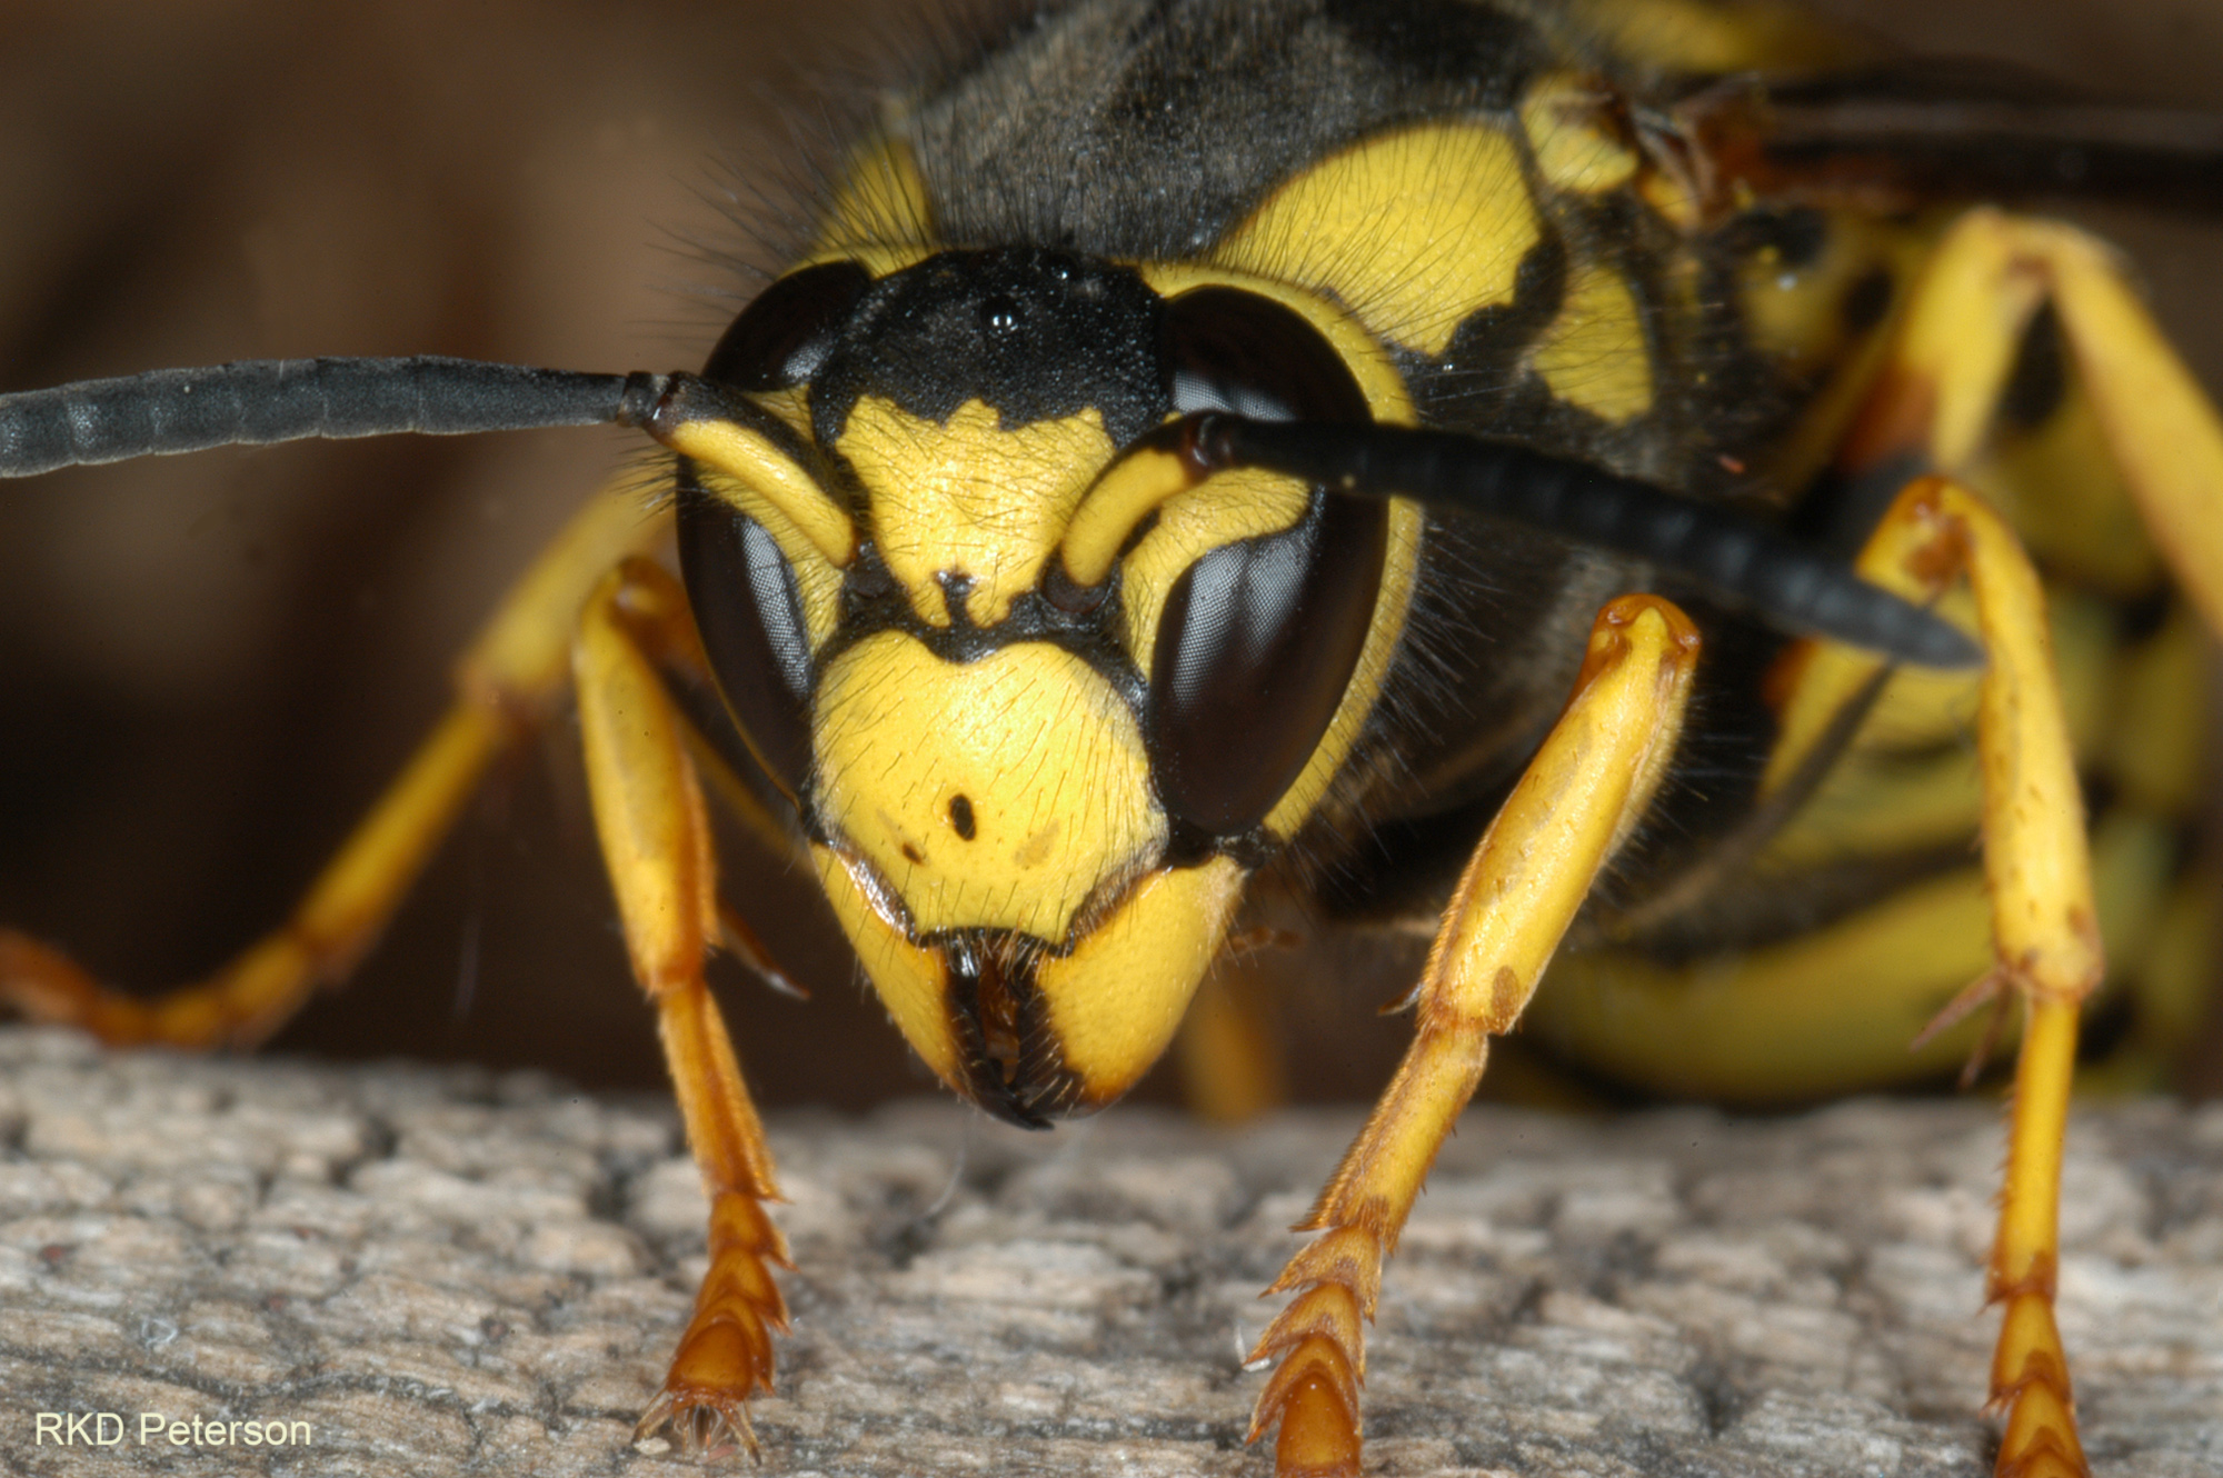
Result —
<instances>
[{"instance_id":1,"label":"weathered grey wood surface under the wasp's feet","mask_svg":"<svg viewBox=\"0 0 2223 1478\"><path fill-rule=\"evenodd\" d=\"M1356 1118L774 1120L762 1471L1267 1474L1238 1351ZM691 1471L627 1445L702 1267L658 1102L0 1031L0 1469ZM1985 1105L1474 1111L1389 1271L1369 1471L1987 1474L1996 1165ZM2065 1245L2099 1471L2223 1471L2223 1107L2083 1114ZM98 1411L122 1445L36 1442ZM144 1411L313 1445L140 1447Z\"/></svg>"}]
</instances>

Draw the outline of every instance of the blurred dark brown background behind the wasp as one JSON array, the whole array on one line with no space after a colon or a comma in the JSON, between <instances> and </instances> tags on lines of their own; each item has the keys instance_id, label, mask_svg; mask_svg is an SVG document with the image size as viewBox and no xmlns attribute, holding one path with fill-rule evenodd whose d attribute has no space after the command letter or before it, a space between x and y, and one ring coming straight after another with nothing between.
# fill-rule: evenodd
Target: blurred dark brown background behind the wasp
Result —
<instances>
[{"instance_id":1,"label":"blurred dark brown background behind the wasp","mask_svg":"<svg viewBox=\"0 0 2223 1478\"><path fill-rule=\"evenodd\" d=\"M1825 9L2223 107L2214 0ZM696 364L754 291L718 258L778 260L782 182L867 78L903 76L916 11L0 4L0 389L305 353ZM2223 231L2101 224L2223 387ZM0 487L0 920L133 985L227 958L282 916L431 722L449 656L629 451L580 431L402 438ZM734 862L729 896L816 989L803 1005L722 969L760 1096L925 1089L816 887ZM1407 1033L1374 1018L1385 993L1298 1000L1314 1096L1378 1087ZM353 987L278 1047L658 1078L565 725L496 776Z\"/></svg>"}]
</instances>

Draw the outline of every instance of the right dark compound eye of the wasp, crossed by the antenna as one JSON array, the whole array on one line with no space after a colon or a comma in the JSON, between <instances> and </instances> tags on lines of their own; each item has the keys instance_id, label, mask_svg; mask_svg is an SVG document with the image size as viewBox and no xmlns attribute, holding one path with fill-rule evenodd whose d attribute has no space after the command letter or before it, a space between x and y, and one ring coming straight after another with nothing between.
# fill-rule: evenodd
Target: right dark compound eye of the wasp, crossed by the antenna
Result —
<instances>
[{"instance_id":1,"label":"right dark compound eye of the wasp, crossed by the antenna","mask_svg":"<svg viewBox=\"0 0 2223 1478\"><path fill-rule=\"evenodd\" d=\"M1176 298L1165 347L1176 411L1372 420L1327 340L1269 298ZM1149 660L1147 742L1172 816L1240 836L1296 785L1358 669L1387 549L1387 502L1314 489L1296 527L1183 571Z\"/></svg>"}]
</instances>

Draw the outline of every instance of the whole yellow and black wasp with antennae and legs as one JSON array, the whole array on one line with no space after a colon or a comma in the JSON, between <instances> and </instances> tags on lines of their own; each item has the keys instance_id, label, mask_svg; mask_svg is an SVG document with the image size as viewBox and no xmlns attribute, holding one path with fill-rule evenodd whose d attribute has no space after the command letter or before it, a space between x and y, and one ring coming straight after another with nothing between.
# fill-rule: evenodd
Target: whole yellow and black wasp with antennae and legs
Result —
<instances>
[{"instance_id":1,"label":"whole yellow and black wasp with antennae and legs","mask_svg":"<svg viewBox=\"0 0 2223 1478\"><path fill-rule=\"evenodd\" d=\"M640 1434L720 1451L754 1447L787 1247L702 973L774 969L714 805L816 873L916 1056L1025 1127L1114 1102L1185 1020L1240 1027L1207 978L1258 893L1427 918L1412 1047L1252 1351L1285 1476L1358 1471L1383 1267L1516 1025L1747 1102L2012 1031L1998 1471L2081 1474L2063 1118L2087 1005L2132 1058L2199 1009L2181 831L2223 629L2223 422L2107 247L1978 204L2101 189L2212 207L2223 127L1772 4L1076 0L889 98L700 371L0 398L7 476L562 425L665 453L656 500L605 489L511 589L276 933L153 1000L0 933L0 996L260 1040L571 705L711 1198Z\"/></svg>"}]
</instances>

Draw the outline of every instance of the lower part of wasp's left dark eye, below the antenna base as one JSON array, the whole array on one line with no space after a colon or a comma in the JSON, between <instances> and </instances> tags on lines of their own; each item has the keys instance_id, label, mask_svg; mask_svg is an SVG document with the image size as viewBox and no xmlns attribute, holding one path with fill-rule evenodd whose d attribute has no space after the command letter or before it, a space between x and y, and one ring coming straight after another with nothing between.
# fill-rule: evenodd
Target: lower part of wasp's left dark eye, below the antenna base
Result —
<instances>
[{"instance_id":1,"label":"lower part of wasp's left dark eye, below the antenna base","mask_svg":"<svg viewBox=\"0 0 2223 1478\"><path fill-rule=\"evenodd\" d=\"M680 462L680 576L725 707L749 753L787 791L811 769L811 645L778 540L705 491Z\"/></svg>"}]
</instances>

